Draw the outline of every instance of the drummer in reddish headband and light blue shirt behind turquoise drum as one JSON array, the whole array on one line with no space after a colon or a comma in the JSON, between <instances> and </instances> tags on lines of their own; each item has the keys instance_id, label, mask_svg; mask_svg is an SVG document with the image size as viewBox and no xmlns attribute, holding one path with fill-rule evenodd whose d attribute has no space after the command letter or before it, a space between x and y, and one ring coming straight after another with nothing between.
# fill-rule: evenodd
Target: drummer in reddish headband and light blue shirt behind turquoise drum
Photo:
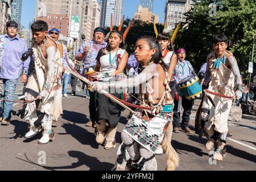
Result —
<instances>
[{"instance_id":1,"label":"drummer in reddish headband and light blue shirt behind turquoise drum","mask_svg":"<svg viewBox=\"0 0 256 182\"><path fill-rule=\"evenodd\" d=\"M186 51L184 48L179 48L176 52L177 54L177 65L175 67L175 80L177 84L183 82L183 80L191 75L193 75L193 67L191 63L185 60ZM182 114L181 129L188 134L192 134L191 129L188 127L191 109L194 105L193 100L188 100L181 93L179 94L179 100L174 99L174 132L179 133L180 129L180 106L182 105L184 111Z\"/></svg>"}]
</instances>

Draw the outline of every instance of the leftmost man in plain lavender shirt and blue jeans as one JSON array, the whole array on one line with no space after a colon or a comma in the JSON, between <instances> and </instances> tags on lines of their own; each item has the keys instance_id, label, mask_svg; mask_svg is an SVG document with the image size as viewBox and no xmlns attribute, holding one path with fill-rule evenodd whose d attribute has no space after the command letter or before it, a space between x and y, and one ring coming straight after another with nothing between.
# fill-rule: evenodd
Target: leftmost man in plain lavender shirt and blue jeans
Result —
<instances>
[{"instance_id":1,"label":"leftmost man in plain lavender shirt and blue jeans","mask_svg":"<svg viewBox=\"0 0 256 182\"><path fill-rule=\"evenodd\" d=\"M22 54L27 51L27 43L17 35L18 23L7 22L6 32L6 35L0 36L0 92L1 97L9 101L1 102L1 125L10 124L11 109L13 109L13 102L10 101L14 100L16 85L22 70L22 82L27 81L30 64L30 57L24 62L20 60Z\"/></svg>"}]
</instances>

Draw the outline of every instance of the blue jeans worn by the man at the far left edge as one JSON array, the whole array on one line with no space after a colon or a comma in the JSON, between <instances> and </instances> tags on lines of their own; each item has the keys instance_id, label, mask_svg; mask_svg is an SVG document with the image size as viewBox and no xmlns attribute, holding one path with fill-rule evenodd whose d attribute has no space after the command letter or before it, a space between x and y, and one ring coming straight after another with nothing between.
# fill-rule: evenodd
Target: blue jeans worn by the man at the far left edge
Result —
<instances>
[{"instance_id":1,"label":"blue jeans worn by the man at the far left edge","mask_svg":"<svg viewBox=\"0 0 256 182\"><path fill-rule=\"evenodd\" d=\"M3 80L3 91L1 93L1 98L13 101L14 94L16 91L16 86L18 79L2 79ZM11 119L11 110L13 109L13 102L3 101L1 102L1 110L3 112L3 118Z\"/></svg>"}]
</instances>

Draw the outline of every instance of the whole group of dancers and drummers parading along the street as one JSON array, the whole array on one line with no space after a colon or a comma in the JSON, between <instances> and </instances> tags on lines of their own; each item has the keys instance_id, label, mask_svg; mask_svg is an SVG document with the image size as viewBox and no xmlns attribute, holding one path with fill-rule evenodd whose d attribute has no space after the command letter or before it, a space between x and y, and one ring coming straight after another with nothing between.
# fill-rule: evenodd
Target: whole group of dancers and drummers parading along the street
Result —
<instances>
[{"instance_id":1,"label":"whole group of dancers and drummers parading along the street","mask_svg":"<svg viewBox=\"0 0 256 182\"><path fill-rule=\"evenodd\" d=\"M47 23L37 20L31 25L32 55L21 61L27 46L17 35L18 24L8 22L7 34L0 36L1 125L10 124L14 93L23 70L22 82L27 84L20 113L30 123L24 138L43 131L39 144L48 143L55 138L52 126L62 114L68 82L75 96L77 81L81 80L89 94L90 121L86 126L95 128L95 140L106 150L116 146L122 111L131 113L121 132L122 143L113 169L154 171L158 166L155 154L164 153L166 169L174 170L179 156L171 146L172 132L179 133L181 128L192 134L191 110L194 100L201 98L197 134L205 135L206 149L215 147L214 158L223 160L229 111L233 99L240 100L244 92L236 58L227 51L228 38L213 36L213 51L197 77L192 63L186 60L188 52L185 48L174 50L165 32L157 38L138 38L129 56L125 40L130 26L124 33L122 24L118 30L110 27L108 34L104 28L96 28L93 39L82 44L72 60L70 50L59 42L60 31L48 31ZM30 65L33 69L28 72Z\"/></svg>"}]
</instances>

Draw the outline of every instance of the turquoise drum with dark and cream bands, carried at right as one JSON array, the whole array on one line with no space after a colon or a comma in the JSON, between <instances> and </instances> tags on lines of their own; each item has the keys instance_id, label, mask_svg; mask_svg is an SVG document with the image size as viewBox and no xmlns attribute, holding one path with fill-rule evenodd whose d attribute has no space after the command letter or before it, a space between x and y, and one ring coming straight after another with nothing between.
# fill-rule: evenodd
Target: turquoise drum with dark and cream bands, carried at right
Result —
<instances>
[{"instance_id":1,"label":"turquoise drum with dark and cream bands, carried at right","mask_svg":"<svg viewBox=\"0 0 256 182\"><path fill-rule=\"evenodd\" d=\"M188 100L199 99L202 96L202 85L199 84L199 77L191 75L178 84L181 94Z\"/></svg>"}]
</instances>

